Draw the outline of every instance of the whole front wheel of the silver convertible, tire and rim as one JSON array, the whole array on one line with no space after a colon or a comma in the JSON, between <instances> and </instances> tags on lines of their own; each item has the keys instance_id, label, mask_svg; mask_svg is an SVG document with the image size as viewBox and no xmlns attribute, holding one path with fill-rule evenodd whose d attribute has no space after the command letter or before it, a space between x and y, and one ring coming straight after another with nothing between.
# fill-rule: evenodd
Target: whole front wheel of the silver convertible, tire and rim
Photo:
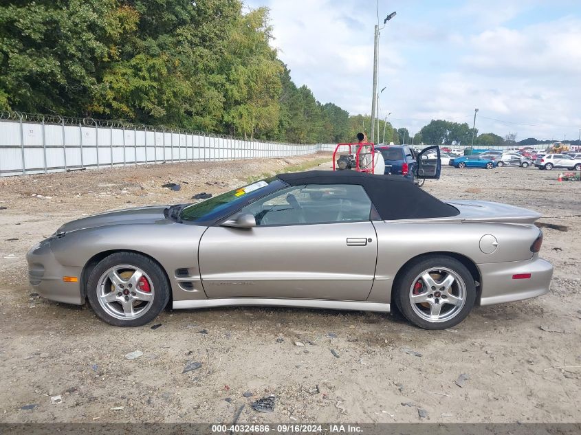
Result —
<instances>
[{"instance_id":1,"label":"whole front wheel of the silver convertible, tire and rim","mask_svg":"<svg viewBox=\"0 0 581 435\"><path fill-rule=\"evenodd\" d=\"M114 326L151 322L165 308L169 294L162 268L151 258L133 252L103 258L87 281L93 311Z\"/></svg>"}]
</instances>

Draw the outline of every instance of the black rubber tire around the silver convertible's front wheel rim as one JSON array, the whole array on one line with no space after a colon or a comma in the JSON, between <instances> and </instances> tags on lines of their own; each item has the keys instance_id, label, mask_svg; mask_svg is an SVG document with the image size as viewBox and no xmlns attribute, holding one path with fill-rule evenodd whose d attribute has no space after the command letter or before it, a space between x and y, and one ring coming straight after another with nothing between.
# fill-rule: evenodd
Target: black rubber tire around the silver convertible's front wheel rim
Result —
<instances>
[{"instance_id":1,"label":"black rubber tire around the silver convertible's front wheel rim","mask_svg":"<svg viewBox=\"0 0 581 435\"><path fill-rule=\"evenodd\" d=\"M130 265L141 269L144 271L147 278L151 280L151 285L153 286L153 289L155 289L155 291L152 290L153 295L151 297L153 299L146 303L146 305L149 304L149 308L146 309L146 312L143 315L140 315L140 317L129 320L114 317L105 311L99 302L100 297L98 292L101 288L100 280L102 279L103 274L105 274L109 269L119 265ZM155 319L155 317L157 317L157 315L159 315L167 305L170 291L166 274L164 274L160 265L151 260L151 258L134 252L116 252L115 254L103 258L91 271L89 279L87 280L87 298L89 299L91 308L101 320L113 326L142 326L151 322L151 320Z\"/></svg>"}]
</instances>

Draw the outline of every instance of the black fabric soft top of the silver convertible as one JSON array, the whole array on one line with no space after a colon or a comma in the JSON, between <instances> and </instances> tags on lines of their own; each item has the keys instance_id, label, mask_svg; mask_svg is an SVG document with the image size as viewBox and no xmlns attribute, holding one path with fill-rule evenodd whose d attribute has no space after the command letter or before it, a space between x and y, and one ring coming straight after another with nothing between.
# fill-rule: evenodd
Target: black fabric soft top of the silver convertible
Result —
<instances>
[{"instance_id":1,"label":"black fabric soft top of the silver convertible","mask_svg":"<svg viewBox=\"0 0 581 435\"><path fill-rule=\"evenodd\" d=\"M457 208L432 197L401 175L373 175L354 170L310 170L277 175L291 186L358 184L363 186L384 221L426 219L459 214Z\"/></svg>"}]
</instances>

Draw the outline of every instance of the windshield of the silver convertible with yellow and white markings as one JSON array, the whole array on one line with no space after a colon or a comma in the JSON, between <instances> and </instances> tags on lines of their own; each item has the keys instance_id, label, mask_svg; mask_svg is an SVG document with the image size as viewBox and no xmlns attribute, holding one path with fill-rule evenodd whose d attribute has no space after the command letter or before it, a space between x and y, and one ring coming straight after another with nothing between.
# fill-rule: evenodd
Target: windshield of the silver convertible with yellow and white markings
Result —
<instances>
[{"instance_id":1,"label":"windshield of the silver convertible with yellow and white markings","mask_svg":"<svg viewBox=\"0 0 581 435\"><path fill-rule=\"evenodd\" d=\"M217 197L206 199L200 203L188 205L179 217L182 221L202 222L219 219L223 212L228 214L228 210L238 210L244 205L251 203L263 194L267 194L285 186L281 180L276 177L263 179L248 184L230 192L223 193Z\"/></svg>"}]
</instances>

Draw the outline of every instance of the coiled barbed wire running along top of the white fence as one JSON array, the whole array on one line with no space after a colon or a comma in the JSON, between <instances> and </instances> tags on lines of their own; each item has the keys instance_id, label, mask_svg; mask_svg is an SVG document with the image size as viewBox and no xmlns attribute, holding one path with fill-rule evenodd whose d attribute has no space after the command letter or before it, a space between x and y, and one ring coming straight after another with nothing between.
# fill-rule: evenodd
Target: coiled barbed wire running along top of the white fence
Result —
<instances>
[{"instance_id":1,"label":"coiled barbed wire running along top of the white fence","mask_svg":"<svg viewBox=\"0 0 581 435\"><path fill-rule=\"evenodd\" d=\"M74 116L65 116L53 114L43 114L43 113L28 113L19 111L0 111L0 120L9 120L17 122L42 122L44 124L61 124L68 126L99 126L99 127L109 127L113 129L145 129L146 131L159 131L165 133L178 133L178 134L188 134L196 136L206 136L206 137L220 137L223 139L231 140L244 140L247 142L257 142L261 144L278 144L278 145L291 145L308 147L316 144L292 144L290 142L277 142L272 140L262 140L262 139L248 139L242 136L226 135L224 133L212 133L199 130L188 130L180 127L171 127L164 125L153 125L153 124L137 124L133 122L127 122L124 120L102 120L99 118L77 118Z\"/></svg>"}]
</instances>

